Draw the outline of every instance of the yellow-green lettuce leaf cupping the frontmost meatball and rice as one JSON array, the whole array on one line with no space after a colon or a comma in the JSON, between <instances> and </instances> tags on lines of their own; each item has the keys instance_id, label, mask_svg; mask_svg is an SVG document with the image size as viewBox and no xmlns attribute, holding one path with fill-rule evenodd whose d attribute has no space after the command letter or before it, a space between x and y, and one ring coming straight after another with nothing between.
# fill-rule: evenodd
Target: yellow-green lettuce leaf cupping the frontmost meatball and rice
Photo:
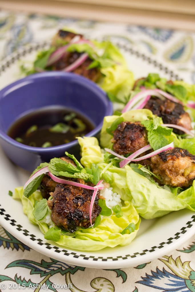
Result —
<instances>
[{"instance_id":1,"label":"yellow-green lettuce leaf cupping the frontmost meatball and rice","mask_svg":"<svg viewBox=\"0 0 195 292\"><path fill-rule=\"evenodd\" d=\"M121 207L123 212L122 217L117 218L115 215L111 215L110 217L102 216L98 226L87 229L78 228L78 230L74 232L73 237L73 234L64 232L64 230L61 230L59 227L49 228L49 225L44 223L44 218L47 214L46 204L45 199L42 198L40 192L34 192L29 198L27 198L23 195L23 188L19 187L15 189L13 198L21 199L24 213L33 224L39 226L47 240L53 240L57 244L71 249L97 251L105 247L115 247L118 245L125 246L130 244L135 238L141 222L132 203L130 201L125 201ZM37 201L39 203L37 203ZM45 213L44 216L39 216L38 212L34 211L38 204L40 205L39 210L42 210L42 215ZM135 224L134 232L130 234L121 234L130 223Z\"/></svg>"}]
</instances>

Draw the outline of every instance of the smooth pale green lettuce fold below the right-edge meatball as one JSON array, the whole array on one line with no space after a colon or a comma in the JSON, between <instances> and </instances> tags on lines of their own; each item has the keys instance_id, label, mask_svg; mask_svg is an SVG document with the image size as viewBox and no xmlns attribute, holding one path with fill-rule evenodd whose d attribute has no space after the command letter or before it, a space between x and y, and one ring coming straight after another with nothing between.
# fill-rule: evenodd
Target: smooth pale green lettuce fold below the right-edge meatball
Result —
<instances>
[{"instance_id":1,"label":"smooth pale green lettuce fold below the right-edge meatball","mask_svg":"<svg viewBox=\"0 0 195 292\"><path fill-rule=\"evenodd\" d=\"M141 217L153 219L184 208L195 211L195 182L192 187L176 196L134 172L130 166L125 166L125 168L132 204Z\"/></svg>"}]
</instances>

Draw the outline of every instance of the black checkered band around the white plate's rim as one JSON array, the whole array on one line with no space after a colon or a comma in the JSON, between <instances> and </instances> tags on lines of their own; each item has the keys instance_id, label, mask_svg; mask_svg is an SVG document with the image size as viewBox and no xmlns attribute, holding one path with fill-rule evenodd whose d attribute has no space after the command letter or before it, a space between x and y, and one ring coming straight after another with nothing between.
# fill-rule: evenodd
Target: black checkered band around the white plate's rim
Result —
<instances>
[{"instance_id":1,"label":"black checkered band around the white plate's rim","mask_svg":"<svg viewBox=\"0 0 195 292\"><path fill-rule=\"evenodd\" d=\"M9 68L13 63L15 63L17 60L20 60L22 57L24 57L25 55L33 52L33 51L38 51L40 49L45 48L46 46L48 46L49 43L44 42L41 44L33 44L30 45L29 47L23 48L22 50L17 51L16 53L13 53L11 56L9 56L9 58L5 58L4 62L1 62L0 65L0 75L2 72L4 72L6 70L6 68ZM158 67L161 71L164 71L166 74L169 74L170 77L175 78L175 79L179 79L177 74L174 74L171 70L169 70L167 67L164 67L161 63L158 63L156 60L152 60L150 57L147 57L144 54L139 53L138 51L134 50L133 48L127 46L127 45L121 45L121 44L116 44L120 49L123 49L127 52L129 52L132 55L135 55L137 58L141 58L142 60L153 64L155 67ZM1 206L1 205L0 205ZM73 256L73 258L82 258L83 260L93 260L93 261L108 261L108 260L112 260L112 261L117 261L117 260L127 260L129 258L135 258L138 255L139 256L144 256L146 253L152 253L153 251L156 251L157 249L161 249L163 248L166 244L171 244L173 241L177 240L180 238L180 236L184 233L187 232L187 228L190 228L193 226L192 222L195 222L195 215L193 215L191 217L191 221L188 221L186 223L185 227L182 227L180 229L179 232L174 234L174 237L170 237L167 239L166 242L161 242L158 246L152 246L151 249L145 249L143 250L141 253L136 252L133 254L127 254L125 256L116 256L115 258L113 257L95 257L95 256L86 256L84 254L78 254L77 252L70 252L65 250L64 248L59 248L53 244L44 242L42 239L36 238L36 236L34 234L31 234L30 231L23 229L23 226L20 224L17 224L17 221L11 218L11 215L6 214L6 211L3 208L0 208L0 215L4 216L4 219L6 221L10 221L9 223L15 227L19 232L22 232L23 235L27 236L30 238L30 240L32 241L37 241L37 244L39 244L40 246L44 246L45 248L47 248L48 250L53 249L56 253L63 253L64 256Z\"/></svg>"}]
</instances>

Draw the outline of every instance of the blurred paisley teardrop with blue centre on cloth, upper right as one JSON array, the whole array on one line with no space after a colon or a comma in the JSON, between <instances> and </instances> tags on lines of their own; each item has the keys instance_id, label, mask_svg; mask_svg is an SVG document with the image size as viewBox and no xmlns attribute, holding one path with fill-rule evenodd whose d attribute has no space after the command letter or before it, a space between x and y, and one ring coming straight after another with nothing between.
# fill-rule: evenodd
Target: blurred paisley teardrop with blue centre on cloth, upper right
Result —
<instances>
[{"instance_id":1,"label":"blurred paisley teardrop with blue centre on cloth, upper right","mask_svg":"<svg viewBox=\"0 0 195 292\"><path fill-rule=\"evenodd\" d=\"M164 53L164 58L168 62L184 63L191 58L193 49L193 40L187 35L168 48Z\"/></svg>"}]
</instances>

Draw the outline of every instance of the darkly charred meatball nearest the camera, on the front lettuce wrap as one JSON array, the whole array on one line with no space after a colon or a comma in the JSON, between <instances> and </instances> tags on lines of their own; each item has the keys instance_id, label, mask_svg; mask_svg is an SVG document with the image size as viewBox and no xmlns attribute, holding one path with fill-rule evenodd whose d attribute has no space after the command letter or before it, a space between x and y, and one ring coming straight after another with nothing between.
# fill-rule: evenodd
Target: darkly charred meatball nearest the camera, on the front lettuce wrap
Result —
<instances>
[{"instance_id":1,"label":"darkly charred meatball nearest the camera, on the front lettuce wrap","mask_svg":"<svg viewBox=\"0 0 195 292\"><path fill-rule=\"evenodd\" d=\"M82 179L77 179L77 182L87 184ZM92 183L88 185L94 186ZM51 220L55 225L69 232L74 232L77 227L90 227L89 208L93 190L58 184L51 195L53 198L48 200L48 206L51 209ZM92 209L92 224L101 212L98 205L99 196L98 190Z\"/></svg>"}]
</instances>

